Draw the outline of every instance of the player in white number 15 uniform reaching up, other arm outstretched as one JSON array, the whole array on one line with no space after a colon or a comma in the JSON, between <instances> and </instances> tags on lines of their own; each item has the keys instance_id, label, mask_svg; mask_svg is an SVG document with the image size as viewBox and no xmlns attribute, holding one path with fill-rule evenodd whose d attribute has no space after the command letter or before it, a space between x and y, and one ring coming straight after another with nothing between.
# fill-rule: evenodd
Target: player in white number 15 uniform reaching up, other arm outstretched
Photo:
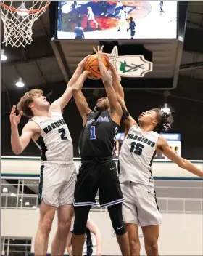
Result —
<instances>
[{"instance_id":1,"label":"player in white number 15 uniform reaching up, other arm outstretched","mask_svg":"<svg viewBox=\"0 0 203 256\"><path fill-rule=\"evenodd\" d=\"M114 66L109 62L112 79L117 98L127 111L123 89ZM130 255L140 255L138 238L138 223L144 234L147 255L158 255L159 224L162 217L157 206L152 177L152 160L158 151L168 159L199 177L203 177L202 170L190 161L181 158L170 149L167 140L160 136L160 132L167 132L173 122L171 113L165 113L159 108L152 108L142 112L137 122L126 112L125 140L120 151L120 183L125 197L123 202L123 220L128 231L130 241Z\"/></svg>"}]
</instances>

